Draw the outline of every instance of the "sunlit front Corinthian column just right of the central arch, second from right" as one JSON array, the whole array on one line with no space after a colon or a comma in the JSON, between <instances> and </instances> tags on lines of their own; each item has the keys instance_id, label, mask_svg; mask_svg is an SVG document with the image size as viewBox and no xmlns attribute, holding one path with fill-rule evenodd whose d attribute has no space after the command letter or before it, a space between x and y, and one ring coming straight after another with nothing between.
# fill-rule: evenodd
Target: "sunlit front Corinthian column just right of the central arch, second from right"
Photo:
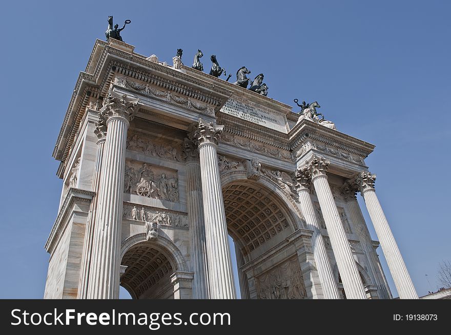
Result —
<instances>
[{"instance_id":1,"label":"sunlit front Corinthian column just right of the central arch, second from right","mask_svg":"<svg viewBox=\"0 0 451 335\"><path fill-rule=\"evenodd\" d=\"M331 187L327 182L326 172L329 164L329 161L313 156L301 168L301 173L309 176L315 186L346 297L348 299L366 299L365 289L346 238Z\"/></svg>"}]
</instances>

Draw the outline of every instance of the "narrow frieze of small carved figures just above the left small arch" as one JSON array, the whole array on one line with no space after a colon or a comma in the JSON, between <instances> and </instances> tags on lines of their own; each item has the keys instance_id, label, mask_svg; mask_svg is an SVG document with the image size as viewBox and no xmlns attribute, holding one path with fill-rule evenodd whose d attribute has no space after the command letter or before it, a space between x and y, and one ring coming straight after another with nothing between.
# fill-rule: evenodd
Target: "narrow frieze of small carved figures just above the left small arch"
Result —
<instances>
[{"instance_id":1,"label":"narrow frieze of small carved figures just above the left small arch","mask_svg":"<svg viewBox=\"0 0 451 335\"><path fill-rule=\"evenodd\" d=\"M124 219L157 222L161 226L173 226L178 228L188 228L188 216L161 208L142 206L138 204L124 203Z\"/></svg>"}]
</instances>

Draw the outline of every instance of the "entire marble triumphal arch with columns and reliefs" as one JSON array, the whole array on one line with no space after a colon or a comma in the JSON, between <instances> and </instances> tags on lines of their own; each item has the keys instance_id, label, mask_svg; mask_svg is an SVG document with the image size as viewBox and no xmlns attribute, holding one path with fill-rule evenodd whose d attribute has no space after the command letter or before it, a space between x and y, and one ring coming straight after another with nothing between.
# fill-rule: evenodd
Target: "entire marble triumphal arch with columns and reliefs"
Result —
<instances>
[{"instance_id":1,"label":"entire marble triumphal arch with columns and reliefs","mask_svg":"<svg viewBox=\"0 0 451 335\"><path fill-rule=\"evenodd\" d=\"M121 285L135 299L234 299L239 285L245 299L391 299L379 243L400 298L417 298L364 161L374 145L316 102L299 114L266 96L262 74L249 89L244 67L220 79L214 55L201 71L201 56L168 65L96 40L53 152L45 298L118 298Z\"/></svg>"}]
</instances>

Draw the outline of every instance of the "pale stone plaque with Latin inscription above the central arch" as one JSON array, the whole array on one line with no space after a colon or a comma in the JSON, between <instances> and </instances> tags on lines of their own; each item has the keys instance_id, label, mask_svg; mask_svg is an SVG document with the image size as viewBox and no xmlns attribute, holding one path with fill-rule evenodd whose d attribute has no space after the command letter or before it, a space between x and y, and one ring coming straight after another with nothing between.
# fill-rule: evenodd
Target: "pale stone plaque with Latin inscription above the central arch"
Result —
<instances>
[{"instance_id":1,"label":"pale stone plaque with Latin inscription above the central arch","mask_svg":"<svg viewBox=\"0 0 451 335\"><path fill-rule=\"evenodd\" d=\"M258 107L251 106L245 102L229 99L221 108L222 113L239 117L240 119L254 122L263 127L287 133L284 115L272 113Z\"/></svg>"}]
</instances>

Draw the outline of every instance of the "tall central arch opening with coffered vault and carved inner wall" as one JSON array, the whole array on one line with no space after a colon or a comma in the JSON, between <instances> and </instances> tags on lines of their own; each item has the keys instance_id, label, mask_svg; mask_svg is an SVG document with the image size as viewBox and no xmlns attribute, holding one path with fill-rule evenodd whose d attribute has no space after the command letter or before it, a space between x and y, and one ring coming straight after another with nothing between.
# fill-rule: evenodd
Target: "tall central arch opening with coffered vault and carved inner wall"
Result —
<instances>
[{"instance_id":1,"label":"tall central arch opening with coffered vault and carved inner wall","mask_svg":"<svg viewBox=\"0 0 451 335\"><path fill-rule=\"evenodd\" d=\"M305 286L296 251L279 252L286 238L299 228L298 220L280 194L270 186L243 179L224 184L222 196L234 244L231 249L232 255L236 255L241 299L304 298ZM250 289L246 272L257 261L259 266L252 270L255 276Z\"/></svg>"}]
</instances>

